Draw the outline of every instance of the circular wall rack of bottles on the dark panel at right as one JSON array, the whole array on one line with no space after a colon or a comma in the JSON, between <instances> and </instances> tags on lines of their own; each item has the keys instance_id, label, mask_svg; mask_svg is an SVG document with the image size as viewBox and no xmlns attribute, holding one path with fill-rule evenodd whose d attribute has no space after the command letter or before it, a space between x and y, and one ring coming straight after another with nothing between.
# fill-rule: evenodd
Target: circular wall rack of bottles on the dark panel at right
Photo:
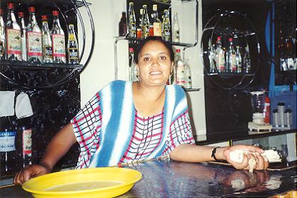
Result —
<instances>
[{"instance_id":1,"label":"circular wall rack of bottles on the dark panel at right","mask_svg":"<svg viewBox=\"0 0 297 198\"><path fill-rule=\"evenodd\" d=\"M242 13L225 11L205 25L202 40L204 74L223 88L248 86L260 63L255 28Z\"/></svg>"}]
</instances>

